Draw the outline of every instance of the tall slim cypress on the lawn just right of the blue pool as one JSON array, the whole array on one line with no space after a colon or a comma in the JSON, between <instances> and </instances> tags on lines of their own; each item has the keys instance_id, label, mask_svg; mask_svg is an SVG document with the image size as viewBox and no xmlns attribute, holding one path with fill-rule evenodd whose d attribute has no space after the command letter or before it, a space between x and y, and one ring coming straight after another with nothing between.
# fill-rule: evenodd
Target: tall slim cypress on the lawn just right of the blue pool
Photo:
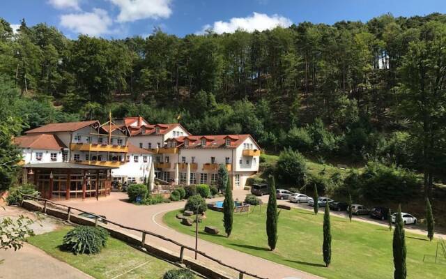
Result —
<instances>
[{"instance_id":1,"label":"tall slim cypress on the lawn just right of the blue pool","mask_svg":"<svg viewBox=\"0 0 446 279\"><path fill-rule=\"evenodd\" d=\"M270 175L270 197L266 209L266 234L268 235L268 246L271 251L276 248L277 243L277 197L274 176Z\"/></svg>"}]
</instances>

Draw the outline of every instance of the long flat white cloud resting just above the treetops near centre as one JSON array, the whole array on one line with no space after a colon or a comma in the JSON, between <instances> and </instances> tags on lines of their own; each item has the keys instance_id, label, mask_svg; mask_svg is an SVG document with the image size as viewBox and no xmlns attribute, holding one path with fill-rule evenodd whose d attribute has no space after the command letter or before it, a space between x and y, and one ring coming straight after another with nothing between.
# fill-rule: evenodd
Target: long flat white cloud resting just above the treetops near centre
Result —
<instances>
[{"instance_id":1,"label":"long flat white cloud resting just above the treetops near centre","mask_svg":"<svg viewBox=\"0 0 446 279\"><path fill-rule=\"evenodd\" d=\"M280 15L266 15L264 13L253 13L248 17L233 17L229 22L218 21L213 25L206 24L203 29L197 33L204 33L206 29L213 29L215 33L233 33L237 29L242 29L247 32L255 30L264 31L274 29L275 27L289 27L293 22L288 17Z\"/></svg>"}]
</instances>

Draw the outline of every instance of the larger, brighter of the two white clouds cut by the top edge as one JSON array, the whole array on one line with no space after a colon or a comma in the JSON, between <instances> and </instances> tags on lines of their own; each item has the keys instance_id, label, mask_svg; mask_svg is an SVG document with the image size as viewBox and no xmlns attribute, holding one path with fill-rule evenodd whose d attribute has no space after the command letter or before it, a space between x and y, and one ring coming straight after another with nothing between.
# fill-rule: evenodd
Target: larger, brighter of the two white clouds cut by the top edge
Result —
<instances>
[{"instance_id":1,"label":"larger, brighter of the two white clouds cut by the top edge","mask_svg":"<svg viewBox=\"0 0 446 279\"><path fill-rule=\"evenodd\" d=\"M134 22L144 18L170 17L171 0L109 0L118 6L120 13L118 22Z\"/></svg>"}]
</instances>

